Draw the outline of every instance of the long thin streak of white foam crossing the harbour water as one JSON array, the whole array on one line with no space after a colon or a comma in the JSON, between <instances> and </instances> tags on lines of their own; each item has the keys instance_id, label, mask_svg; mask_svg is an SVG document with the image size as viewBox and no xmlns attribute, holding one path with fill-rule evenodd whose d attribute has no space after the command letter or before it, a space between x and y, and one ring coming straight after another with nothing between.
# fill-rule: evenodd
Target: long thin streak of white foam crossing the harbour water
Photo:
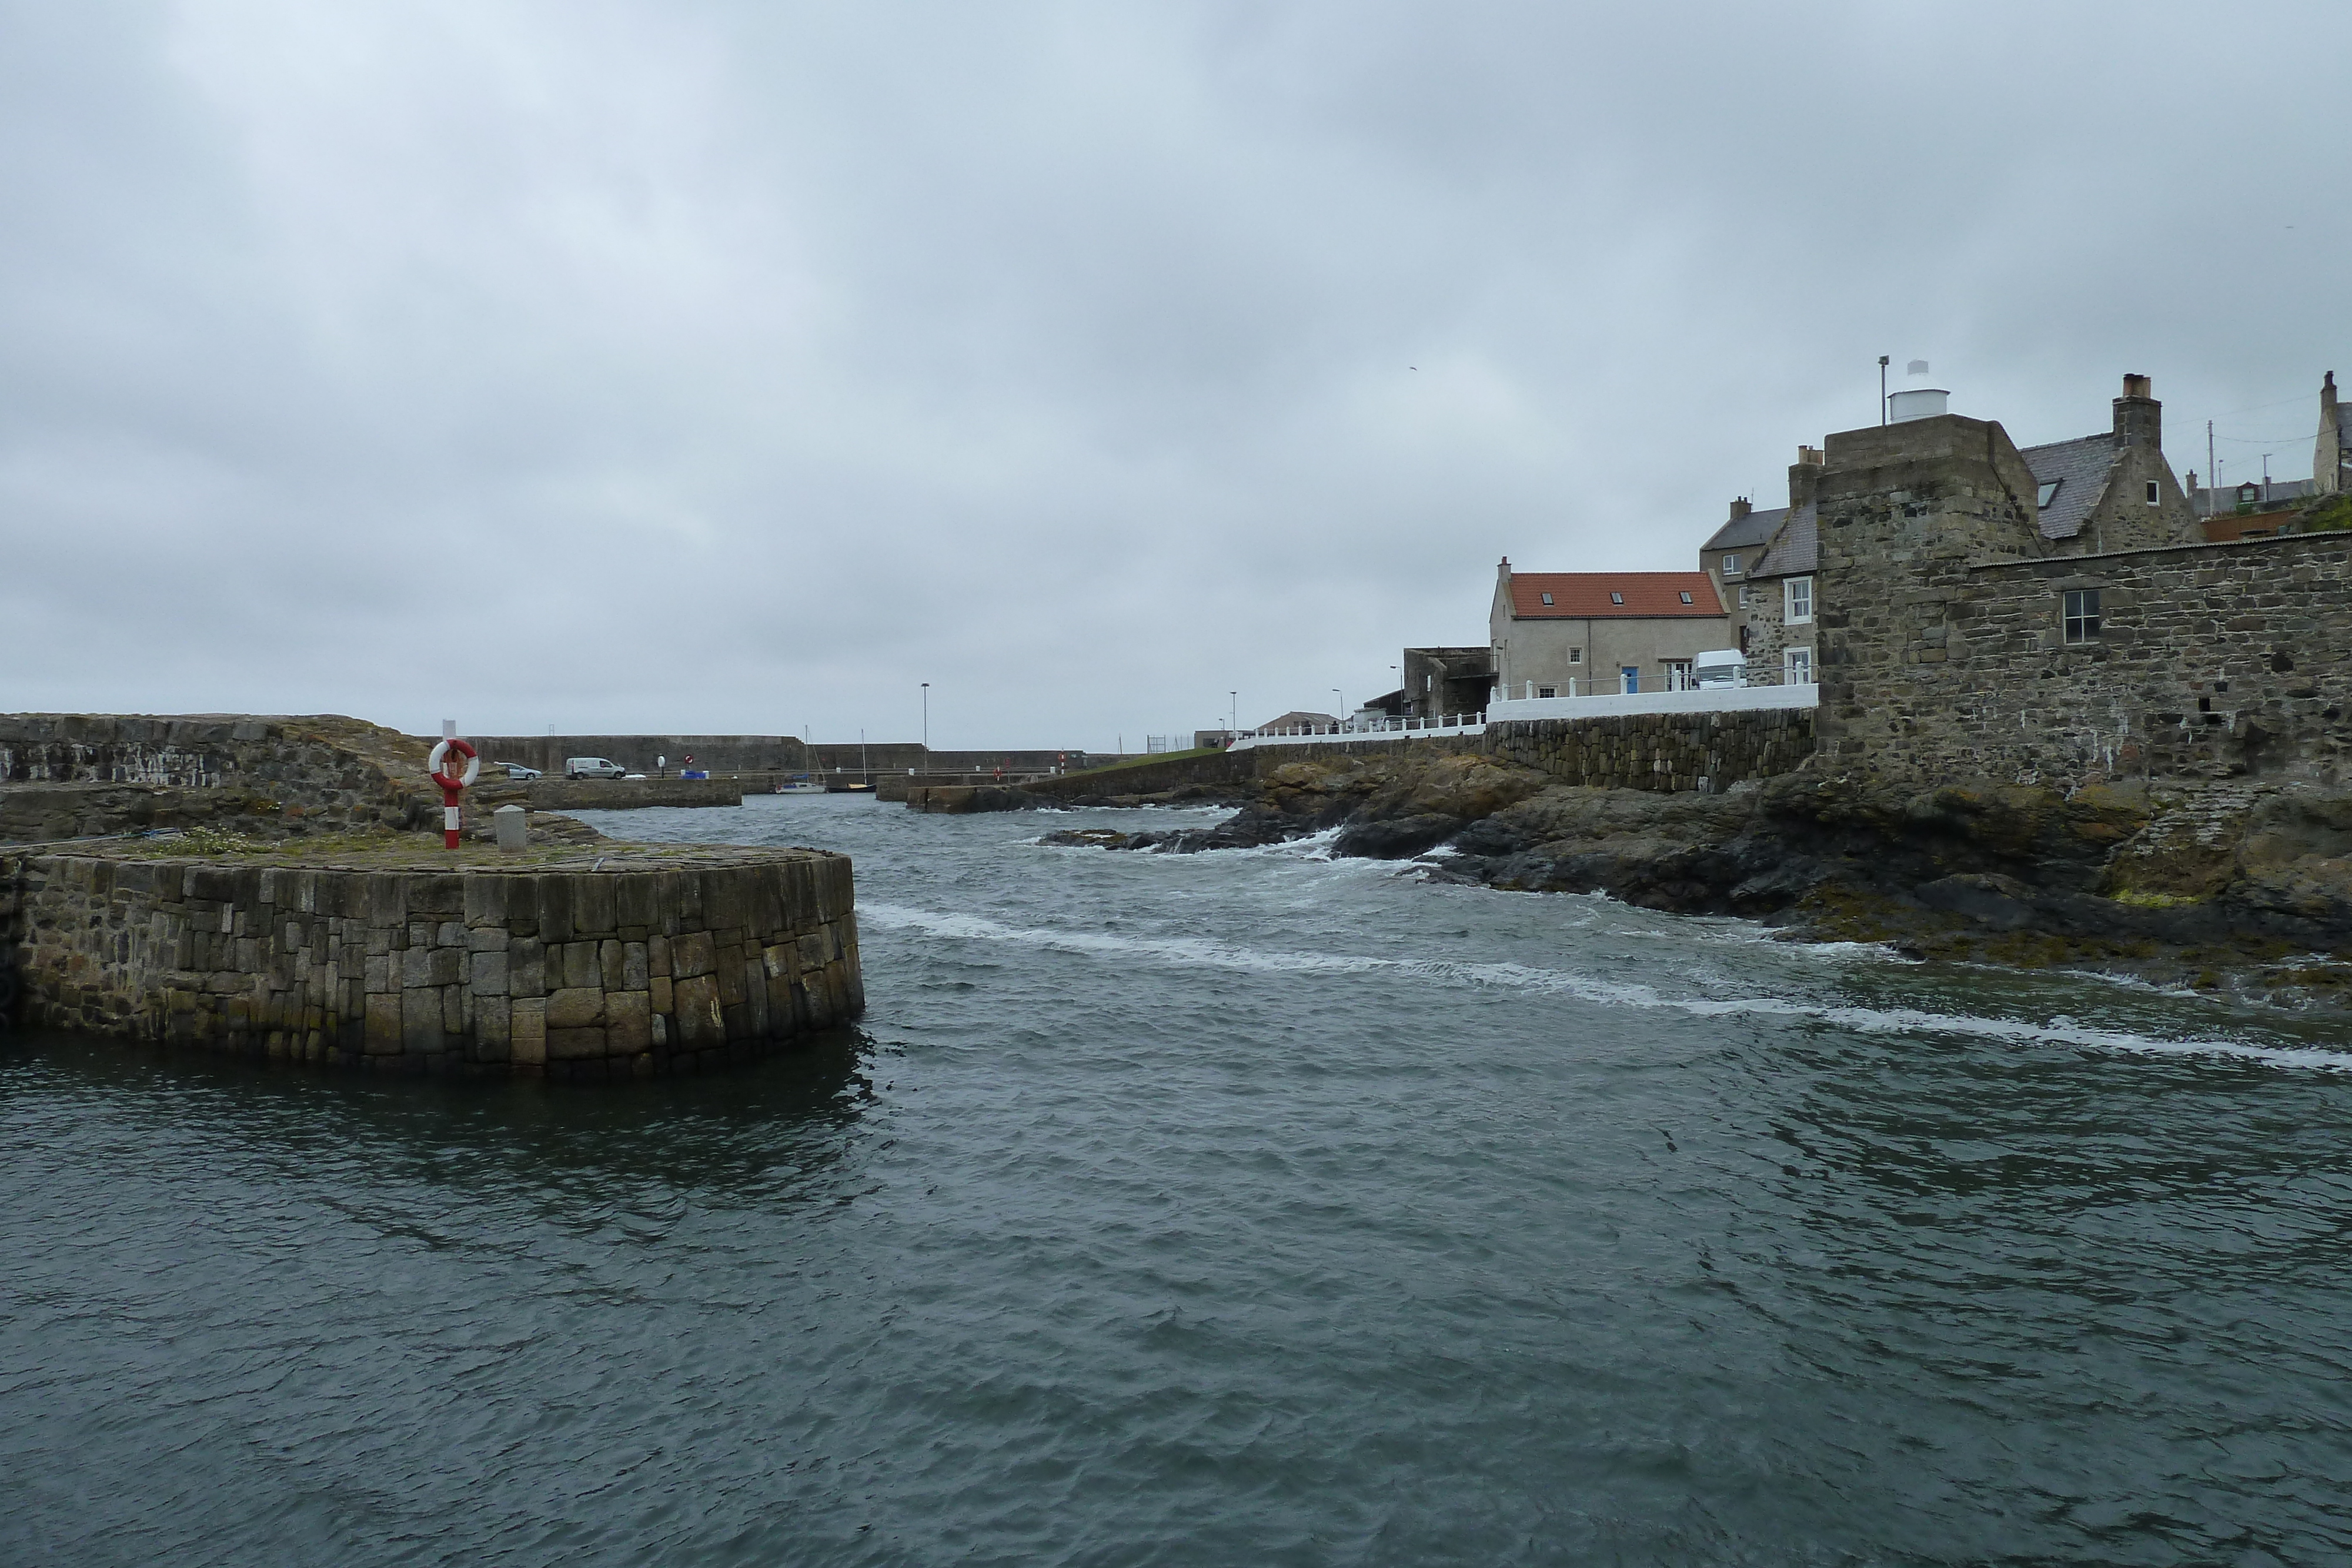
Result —
<instances>
[{"instance_id":1,"label":"long thin streak of white foam crossing the harbour water","mask_svg":"<svg viewBox=\"0 0 2352 1568\"><path fill-rule=\"evenodd\" d=\"M1256 851L1240 851L1256 853ZM1693 1018L1792 1018L1828 1023L1858 1034L1959 1034L1969 1039L1994 1039L2004 1044L2053 1044L2086 1051L2129 1051L2138 1056L2223 1056L2232 1060L2263 1063L2272 1067L2305 1067L2324 1072L2352 1072L2352 1053L2321 1051L2317 1046L2258 1046L2234 1039L2157 1039L2129 1030L2103 1030L2074 1018L1990 1018L1976 1013L1931 1013L1924 1009L1875 1009L1832 1006L1823 1001L1797 1001L1788 997L1705 997L1668 994L1639 980L1604 980L1559 969L1534 969L1526 964L1463 964L1456 959L1381 959L1345 952L1268 952L1235 947L1200 936L1117 936L1110 931L1049 931L1030 926L1007 926L983 914L953 914L938 910L915 910L891 903L858 905L858 919L894 929L922 931L976 943L1016 943L1023 947L1049 947L1058 952L1103 954L1122 959L1148 959L1174 966L1230 969L1251 973L1329 973L1367 976L1397 973L1442 985L1472 985L1541 992L1552 997L1576 997L1597 1006L1628 1006L1644 1011L1677 1011Z\"/></svg>"}]
</instances>

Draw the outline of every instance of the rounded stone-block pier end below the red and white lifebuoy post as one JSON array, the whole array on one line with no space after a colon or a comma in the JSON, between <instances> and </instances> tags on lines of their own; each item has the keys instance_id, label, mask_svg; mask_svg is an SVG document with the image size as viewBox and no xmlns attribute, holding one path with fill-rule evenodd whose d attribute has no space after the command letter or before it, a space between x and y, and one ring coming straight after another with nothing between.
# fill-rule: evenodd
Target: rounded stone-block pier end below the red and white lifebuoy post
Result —
<instances>
[{"instance_id":1,"label":"rounded stone-block pier end below the red and white lifebuoy post","mask_svg":"<svg viewBox=\"0 0 2352 1568\"><path fill-rule=\"evenodd\" d=\"M397 1072L701 1072L866 1006L847 856L468 858L19 853L0 940L33 1027Z\"/></svg>"}]
</instances>

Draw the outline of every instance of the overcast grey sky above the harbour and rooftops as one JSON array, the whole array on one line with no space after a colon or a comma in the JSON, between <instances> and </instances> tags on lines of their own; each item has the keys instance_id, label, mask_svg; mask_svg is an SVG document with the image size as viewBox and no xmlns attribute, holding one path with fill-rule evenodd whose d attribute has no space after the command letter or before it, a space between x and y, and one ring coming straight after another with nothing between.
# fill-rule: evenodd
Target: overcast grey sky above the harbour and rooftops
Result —
<instances>
[{"instance_id":1,"label":"overcast grey sky above the harbour and rooftops","mask_svg":"<svg viewBox=\"0 0 2352 1568\"><path fill-rule=\"evenodd\" d=\"M1689 569L1877 355L2310 475L2352 7L0 0L0 708L1084 745Z\"/></svg>"}]
</instances>

